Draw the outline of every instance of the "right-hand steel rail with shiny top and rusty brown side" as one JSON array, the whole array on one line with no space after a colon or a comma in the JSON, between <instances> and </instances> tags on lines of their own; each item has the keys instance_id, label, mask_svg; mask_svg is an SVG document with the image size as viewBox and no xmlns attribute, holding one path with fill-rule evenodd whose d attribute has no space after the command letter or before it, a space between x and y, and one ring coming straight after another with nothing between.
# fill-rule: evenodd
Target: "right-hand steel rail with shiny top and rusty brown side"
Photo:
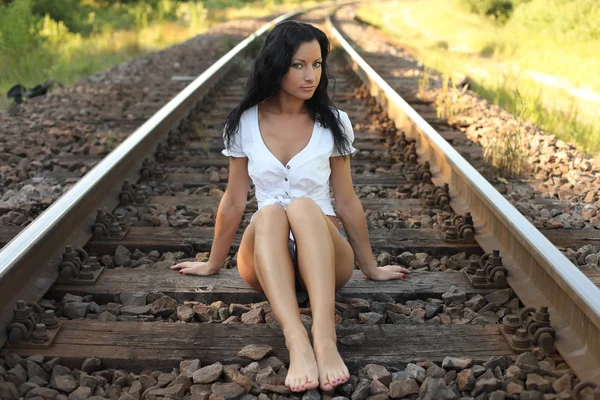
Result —
<instances>
[{"instance_id":1,"label":"right-hand steel rail with shiny top and rusty brown side","mask_svg":"<svg viewBox=\"0 0 600 400\"><path fill-rule=\"evenodd\" d=\"M476 240L500 249L508 281L526 306L548 306L555 346L582 380L600 382L600 290L429 125L354 50L327 16L330 38L354 71L429 161L434 183L450 185L451 206L473 215Z\"/></svg>"}]
</instances>

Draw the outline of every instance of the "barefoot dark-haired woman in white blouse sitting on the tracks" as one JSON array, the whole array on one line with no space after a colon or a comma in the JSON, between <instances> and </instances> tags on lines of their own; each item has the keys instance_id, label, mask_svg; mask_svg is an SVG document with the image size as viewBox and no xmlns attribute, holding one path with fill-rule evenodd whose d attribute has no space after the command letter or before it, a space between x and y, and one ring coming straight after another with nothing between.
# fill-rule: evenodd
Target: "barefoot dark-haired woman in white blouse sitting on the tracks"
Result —
<instances>
[{"instance_id":1,"label":"barefoot dark-haired woman in white blouse sitting on the tracks","mask_svg":"<svg viewBox=\"0 0 600 400\"><path fill-rule=\"evenodd\" d=\"M334 315L335 291L350 279L354 255L367 279L409 273L399 266L377 268L352 186L352 125L327 94L328 54L326 35L312 25L282 22L269 33L246 94L226 119L229 182L217 211L210 259L171 267L190 275L219 271L252 179L258 211L242 237L238 270L271 303L290 352L285 384L295 392L317 386L330 391L350 377L337 351ZM331 206L330 179L348 240ZM295 284L310 298L313 347L300 319Z\"/></svg>"}]
</instances>

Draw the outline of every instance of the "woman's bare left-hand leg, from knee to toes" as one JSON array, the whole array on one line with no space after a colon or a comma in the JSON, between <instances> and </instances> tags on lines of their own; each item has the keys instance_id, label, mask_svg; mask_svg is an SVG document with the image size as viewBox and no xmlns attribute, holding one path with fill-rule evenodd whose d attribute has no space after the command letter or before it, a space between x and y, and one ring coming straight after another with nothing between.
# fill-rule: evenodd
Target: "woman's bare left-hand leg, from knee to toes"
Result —
<instances>
[{"instance_id":1,"label":"woman's bare left-hand leg, from knee to toes","mask_svg":"<svg viewBox=\"0 0 600 400\"><path fill-rule=\"evenodd\" d=\"M290 352L290 369L285 384L293 391L314 389L319 385L319 372L296 300L294 267L287 247L290 227L286 212L279 206L267 206L261 209L253 222L256 223L256 276L281 325Z\"/></svg>"}]
</instances>

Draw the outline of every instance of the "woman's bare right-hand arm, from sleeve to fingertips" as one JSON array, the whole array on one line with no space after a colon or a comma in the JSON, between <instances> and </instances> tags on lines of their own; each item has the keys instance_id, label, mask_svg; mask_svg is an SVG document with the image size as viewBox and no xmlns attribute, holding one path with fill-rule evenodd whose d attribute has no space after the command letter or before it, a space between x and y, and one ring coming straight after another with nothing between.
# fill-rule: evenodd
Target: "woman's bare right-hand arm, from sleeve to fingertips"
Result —
<instances>
[{"instance_id":1,"label":"woman's bare right-hand arm, from sleeve to fingertips","mask_svg":"<svg viewBox=\"0 0 600 400\"><path fill-rule=\"evenodd\" d=\"M387 280L404 278L410 273L402 267L378 268L373 257L367 221L360 200L354 193L350 157L331 157L331 186L335 196L335 208L338 217L344 225L348 241L358 263L358 267L367 279Z\"/></svg>"}]
</instances>

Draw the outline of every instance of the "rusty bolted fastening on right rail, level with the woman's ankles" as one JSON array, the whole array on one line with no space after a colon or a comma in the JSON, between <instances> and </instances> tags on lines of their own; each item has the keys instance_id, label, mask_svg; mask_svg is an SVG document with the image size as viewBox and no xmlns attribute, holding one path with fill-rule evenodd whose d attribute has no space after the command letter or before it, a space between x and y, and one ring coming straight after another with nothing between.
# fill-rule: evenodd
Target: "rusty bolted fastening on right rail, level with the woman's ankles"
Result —
<instances>
[{"instance_id":1,"label":"rusty bolted fastening on right rail, level with the woman's ankles","mask_svg":"<svg viewBox=\"0 0 600 400\"><path fill-rule=\"evenodd\" d=\"M550 326L548 307L526 307L518 316L507 315L502 319L500 331L515 351L528 351L534 347L539 347L545 355L554 351L556 333Z\"/></svg>"}]
</instances>

